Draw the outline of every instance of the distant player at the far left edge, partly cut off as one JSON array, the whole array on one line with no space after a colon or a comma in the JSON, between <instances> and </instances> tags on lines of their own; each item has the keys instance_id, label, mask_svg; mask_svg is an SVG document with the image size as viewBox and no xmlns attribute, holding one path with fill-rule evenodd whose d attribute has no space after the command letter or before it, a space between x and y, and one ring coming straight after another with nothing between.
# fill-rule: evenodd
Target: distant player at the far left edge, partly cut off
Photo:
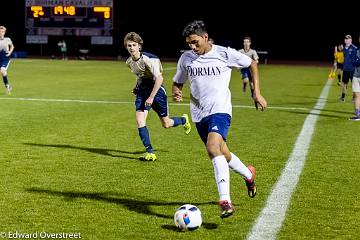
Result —
<instances>
[{"instance_id":1,"label":"distant player at the far left edge, partly cut off","mask_svg":"<svg viewBox=\"0 0 360 240\"><path fill-rule=\"evenodd\" d=\"M10 86L7 77L7 69L10 64L10 55L14 51L14 44L10 38L5 37L5 33L6 28L4 26L0 26L0 69L7 93L11 94L12 87Z\"/></svg>"}]
</instances>

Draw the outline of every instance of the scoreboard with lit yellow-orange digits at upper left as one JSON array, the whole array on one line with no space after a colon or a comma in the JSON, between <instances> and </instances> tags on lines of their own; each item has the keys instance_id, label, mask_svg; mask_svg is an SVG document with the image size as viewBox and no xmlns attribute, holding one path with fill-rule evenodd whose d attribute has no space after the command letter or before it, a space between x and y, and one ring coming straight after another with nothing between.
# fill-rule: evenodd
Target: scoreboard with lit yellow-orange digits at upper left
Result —
<instances>
[{"instance_id":1,"label":"scoreboard with lit yellow-orange digits at upper left","mask_svg":"<svg viewBox=\"0 0 360 240\"><path fill-rule=\"evenodd\" d=\"M48 36L90 36L93 44L112 44L113 0L26 0L27 43Z\"/></svg>"}]
</instances>

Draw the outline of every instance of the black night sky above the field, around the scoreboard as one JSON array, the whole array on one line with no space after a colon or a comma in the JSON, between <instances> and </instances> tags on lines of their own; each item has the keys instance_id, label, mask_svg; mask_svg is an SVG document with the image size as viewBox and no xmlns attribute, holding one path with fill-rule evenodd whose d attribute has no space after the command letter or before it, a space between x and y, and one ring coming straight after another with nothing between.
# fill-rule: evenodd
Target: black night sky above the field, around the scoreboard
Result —
<instances>
[{"instance_id":1,"label":"black night sky above the field, around the scoreboard","mask_svg":"<svg viewBox=\"0 0 360 240\"><path fill-rule=\"evenodd\" d=\"M36 51L39 46L25 44L24 1L3 2L0 25L8 28L7 35L12 38L16 50ZM173 6L169 6L170 2ZM268 51L270 60L331 62L333 46L342 43L343 36L348 33L353 35L353 43L359 45L360 21L356 21L359 12L355 9L354 13L343 10L335 14L335 6L325 6L320 2L316 4L322 6L313 6L315 1L283 4L223 0L205 5L201 2L188 2L186 5L185 1L160 4L158 1L114 0L115 44L93 52L125 55L123 36L136 31L144 39L145 51L160 57L178 57L179 51L186 48L182 30L195 19L205 21L209 35L219 45L238 49L242 47L242 38L251 36L253 48ZM226 2L229 4L224 4ZM235 2L240 6L235 6Z\"/></svg>"}]
</instances>

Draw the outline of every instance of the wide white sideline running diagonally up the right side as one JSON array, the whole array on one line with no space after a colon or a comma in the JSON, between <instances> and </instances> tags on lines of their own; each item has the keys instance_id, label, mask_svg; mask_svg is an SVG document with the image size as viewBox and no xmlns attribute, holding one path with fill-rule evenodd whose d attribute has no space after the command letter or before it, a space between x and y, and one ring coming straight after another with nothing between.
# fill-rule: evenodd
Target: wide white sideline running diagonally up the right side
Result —
<instances>
[{"instance_id":1,"label":"wide white sideline running diagonally up the right side","mask_svg":"<svg viewBox=\"0 0 360 240\"><path fill-rule=\"evenodd\" d=\"M286 166L277 183L274 185L265 207L262 209L249 232L247 236L248 240L276 239L277 233L281 229L285 219L291 195L296 188L303 170L318 114L320 114L325 106L331 83L331 81L326 83L315 107L306 117Z\"/></svg>"}]
</instances>

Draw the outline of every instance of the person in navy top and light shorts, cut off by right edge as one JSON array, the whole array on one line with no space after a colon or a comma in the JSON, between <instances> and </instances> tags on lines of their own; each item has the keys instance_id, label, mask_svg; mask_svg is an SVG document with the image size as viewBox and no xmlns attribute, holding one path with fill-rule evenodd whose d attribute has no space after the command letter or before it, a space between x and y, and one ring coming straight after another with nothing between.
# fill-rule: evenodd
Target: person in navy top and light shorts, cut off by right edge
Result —
<instances>
[{"instance_id":1,"label":"person in navy top and light shorts, cut off by right edge","mask_svg":"<svg viewBox=\"0 0 360 240\"><path fill-rule=\"evenodd\" d=\"M359 37L360 41L360 37ZM360 49L357 50L356 56L352 62L354 69L354 76L352 79L352 91L354 94L354 108L355 108L355 115L349 120L352 121L359 121L360 120Z\"/></svg>"}]
</instances>

